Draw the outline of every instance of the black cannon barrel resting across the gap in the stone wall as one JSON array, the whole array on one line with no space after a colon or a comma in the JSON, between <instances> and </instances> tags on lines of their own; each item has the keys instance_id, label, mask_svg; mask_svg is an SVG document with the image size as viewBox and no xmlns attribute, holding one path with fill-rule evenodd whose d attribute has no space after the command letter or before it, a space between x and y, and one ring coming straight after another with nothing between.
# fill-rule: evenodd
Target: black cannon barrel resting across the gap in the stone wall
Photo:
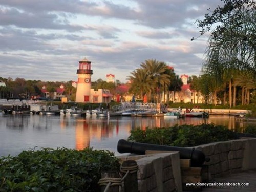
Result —
<instances>
[{"instance_id":1,"label":"black cannon barrel resting across the gap in the stone wall","mask_svg":"<svg viewBox=\"0 0 256 192\"><path fill-rule=\"evenodd\" d=\"M117 143L117 151L119 153L134 153L138 155L144 155L146 150L179 151L180 158L191 159L191 166L193 167L201 167L205 162L204 153L200 150L196 150L195 148L130 142L124 139L120 139Z\"/></svg>"}]
</instances>

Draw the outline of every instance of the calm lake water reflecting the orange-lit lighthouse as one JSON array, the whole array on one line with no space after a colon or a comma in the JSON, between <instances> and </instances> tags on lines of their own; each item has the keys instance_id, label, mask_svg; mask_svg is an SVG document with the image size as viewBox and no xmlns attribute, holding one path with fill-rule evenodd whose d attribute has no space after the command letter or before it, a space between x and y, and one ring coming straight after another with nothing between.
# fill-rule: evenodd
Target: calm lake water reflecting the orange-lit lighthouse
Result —
<instances>
[{"instance_id":1,"label":"calm lake water reflecting the orange-lit lighthouse","mask_svg":"<svg viewBox=\"0 0 256 192\"><path fill-rule=\"evenodd\" d=\"M214 123L243 131L248 122L233 116L210 116L208 119L164 117L63 117L47 115L0 114L0 156L17 155L31 148L93 147L109 150L115 155L119 139L127 139L130 130L146 127L169 127L174 124ZM256 123L256 122L250 122Z\"/></svg>"}]
</instances>

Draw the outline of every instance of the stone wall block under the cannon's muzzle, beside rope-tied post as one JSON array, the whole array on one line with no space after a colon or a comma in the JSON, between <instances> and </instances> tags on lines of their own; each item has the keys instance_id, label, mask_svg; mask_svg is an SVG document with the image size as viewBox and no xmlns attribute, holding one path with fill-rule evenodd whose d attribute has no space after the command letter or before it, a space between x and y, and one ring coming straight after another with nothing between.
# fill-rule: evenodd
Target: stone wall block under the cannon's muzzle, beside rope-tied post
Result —
<instances>
[{"instance_id":1,"label":"stone wall block under the cannon's muzzle, beside rope-tied post","mask_svg":"<svg viewBox=\"0 0 256 192\"><path fill-rule=\"evenodd\" d=\"M121 161L137 162L139 191L182 191L178 152L120 156L119 158Z\"/></svg>"}]
</instances>

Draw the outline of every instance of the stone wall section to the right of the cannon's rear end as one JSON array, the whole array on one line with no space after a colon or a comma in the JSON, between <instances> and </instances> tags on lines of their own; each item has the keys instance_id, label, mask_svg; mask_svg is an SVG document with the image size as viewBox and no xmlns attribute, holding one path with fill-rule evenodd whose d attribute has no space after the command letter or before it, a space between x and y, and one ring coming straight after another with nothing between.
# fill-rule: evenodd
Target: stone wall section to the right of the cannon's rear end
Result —
<instances>
[{"instance_id":1,"label":"stone wall section to the right of the cannon's rear end","mask_svg":"<svg viewBox=\"0 0 256 192\"><path fill-rule=\"evenodd\" d=\"M210 159L209 179L224 174L256 168L256 139L238 139L196 146Z\"/></svg>"}]
</instances>

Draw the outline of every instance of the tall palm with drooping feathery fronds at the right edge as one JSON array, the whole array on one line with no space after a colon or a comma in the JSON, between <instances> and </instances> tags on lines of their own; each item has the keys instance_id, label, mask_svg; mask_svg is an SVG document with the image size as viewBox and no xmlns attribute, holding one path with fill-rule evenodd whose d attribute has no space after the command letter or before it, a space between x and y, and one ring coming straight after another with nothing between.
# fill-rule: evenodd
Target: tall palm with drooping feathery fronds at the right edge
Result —
<instances>
[{"instance_id":1,"label":"tall palm with drooping feathery fronds at the right edge","mask_svg":"<svg viewBox=\"0 0 256 192\"><path fill-rule=\"evenodd\" d=\"M202 74L212 76L219 85L229 80L230 107L235 104L232 103L232 78L242 71L256 78L256 13L242 13L240 20L224 26L222 33L210 38L207 60L202 67Z\"/></svg>"}]
</instances>

